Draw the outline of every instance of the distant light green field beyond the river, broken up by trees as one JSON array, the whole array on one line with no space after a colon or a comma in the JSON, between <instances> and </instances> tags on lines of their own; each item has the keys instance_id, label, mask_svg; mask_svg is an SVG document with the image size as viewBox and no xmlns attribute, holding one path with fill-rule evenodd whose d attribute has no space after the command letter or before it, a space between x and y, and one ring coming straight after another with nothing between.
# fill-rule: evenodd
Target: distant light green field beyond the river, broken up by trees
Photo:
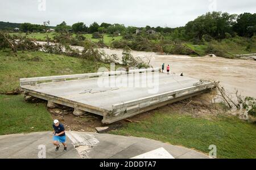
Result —
<instances>
[{"instance_id":1,"label":"distant light green field beyond the river, broken up by trees","mask_svg":"<svg viewBox=\"0 0 256 170\"><path fill-rule=\"evenodd\" d=\"M25 36L26 33L10 33L11 35L22 35L22 36ZM53 37L56 35L56 32L49 32L49 33L30 33L28 34L28 37L32 38L32 39L35 39L35 40L38 40L38 41L46 41L46 37L48 36L51 40L53 40ZM76 34L74 33L73 34L73 37L75 37ZM91 33L86 33L84 34L84 36L93 41L93 42L98 42L100 39L92 39L92 34ZM114 40L121 40L122 39L122 36L117 36L117 37L112 37L108 34L104 34L104 43L106 45L110 45L111 41L114 41Z\"/></svg>"}]
</instances>

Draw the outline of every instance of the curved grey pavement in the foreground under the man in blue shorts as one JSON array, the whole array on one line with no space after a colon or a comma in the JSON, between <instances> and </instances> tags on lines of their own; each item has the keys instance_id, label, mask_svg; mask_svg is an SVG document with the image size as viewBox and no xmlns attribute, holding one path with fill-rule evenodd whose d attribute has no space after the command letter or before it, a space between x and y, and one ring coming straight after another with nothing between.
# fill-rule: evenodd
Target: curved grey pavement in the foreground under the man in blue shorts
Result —
<instances>
[{"instance_id":1,"label":"curved grey pavement in the foreground under the man in blue shorts","mask_svg":"<svg viewBox=\"0 0 256 170\"><path fill-rule=\"evenodd\" d=\"M43 155L43 145L46 147L46 158L128 159L151 151L154 153L160 151L159 158L172 156L176 159L208 158L207 155L180 146L146 138L111 134L67 132L67 143L67 152L63 151L63 146L56 152L52 145L51 132L2 135L0 136L0 158L36 159L38 154ZM155 155L146 154L146 158L151 158L151 156Z\"/></svg>"}]
</instances>

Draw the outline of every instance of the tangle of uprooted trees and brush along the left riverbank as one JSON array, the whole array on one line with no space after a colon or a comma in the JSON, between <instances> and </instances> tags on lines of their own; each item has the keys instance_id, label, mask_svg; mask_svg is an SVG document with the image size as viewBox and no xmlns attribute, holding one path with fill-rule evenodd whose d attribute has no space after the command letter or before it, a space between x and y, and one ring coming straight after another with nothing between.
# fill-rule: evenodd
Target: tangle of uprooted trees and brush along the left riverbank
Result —
<instances>
[{"instance_id":1,"label":"tangle of uprooted trees and brush along the left riverbank","mask_svg":"<svg viewBox=\"0 0 256 170\"><path fill-rule=\"evenodd\" d=\"M104 63L117 63L119 59L117 55L107 55L102 50L101 44L92 42L86 39L82 35L73 37L68 32L61 32L54 37L55 43L51 43L47 37L47 42L39 44L37 41L28 38L27 36L11 36L7 32L0 32L0 50L11 49L14 53L18 50L30 50L30 51L42 51L46 53L65 54L71 57L88 59L90 61L104 62ZM73 48L71 45L80 45L83 49ZM123 53L124 58L123 65L129 65L133 67L148 67L141 58L134 58L131 56L130 51L126 50Z\"/></svg>"}]
</instances>

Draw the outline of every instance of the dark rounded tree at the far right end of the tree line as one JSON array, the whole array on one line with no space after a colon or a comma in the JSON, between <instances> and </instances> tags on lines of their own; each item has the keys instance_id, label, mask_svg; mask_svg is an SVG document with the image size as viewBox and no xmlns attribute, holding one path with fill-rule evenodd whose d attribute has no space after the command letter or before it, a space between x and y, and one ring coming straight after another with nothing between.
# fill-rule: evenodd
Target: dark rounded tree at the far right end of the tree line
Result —
<instances>
[{"instance_id":1,"label":"dark rounded tree at the far right end of the tree line","mask_svg":"<svg viewBox=\"0 0 256 170\"><path fill-rule=\"evenodd\" d=\"M244 13L237 17L237 23L234 24L233 30L239 36L252 37L256 33L256 13Z\"/></svg>"}]
</instances>

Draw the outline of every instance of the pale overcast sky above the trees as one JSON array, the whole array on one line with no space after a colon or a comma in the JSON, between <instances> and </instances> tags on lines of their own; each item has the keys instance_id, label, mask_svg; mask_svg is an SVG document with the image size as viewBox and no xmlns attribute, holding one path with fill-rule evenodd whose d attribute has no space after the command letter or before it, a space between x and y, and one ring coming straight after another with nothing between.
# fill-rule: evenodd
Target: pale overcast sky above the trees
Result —
<instances>
[{"instance_id":1,"label":"pale overcast sky above the trees","mask_svg":"<svg viewBox=\"0 0 256 170\"><path fill-rule=\"evenodd\" d=\"M0 0L0 21L51 25L63 21L179 27L208 11L256 12L255 0Z\"/></svg>"}]
</instances>

